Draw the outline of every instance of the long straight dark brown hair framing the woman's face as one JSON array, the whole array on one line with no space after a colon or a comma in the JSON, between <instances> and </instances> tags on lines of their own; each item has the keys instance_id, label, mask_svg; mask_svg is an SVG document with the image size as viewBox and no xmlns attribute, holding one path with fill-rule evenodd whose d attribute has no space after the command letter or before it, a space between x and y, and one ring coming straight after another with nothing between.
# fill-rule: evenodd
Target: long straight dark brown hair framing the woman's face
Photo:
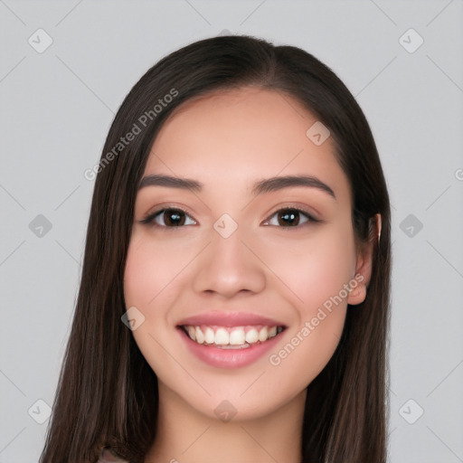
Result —
<instances>
[{"instance_id":1,"label":"long straight dark brown hair framing the woman's face","mask_svg":"<svg viewBox=\"0 0 463 463\"><path fill-rule=\"evenodd\" d=\"M132 463L144 462L156 438L157 379L121 322L137 185L156 134L175 108L214 90L245 86L298 99L329 128L352 190L355 239L374 239L366 299L348 307L335 354L307 387L301 461L386 461L390 203L372 132L352 94L325 64L297 47L241 35L191 43L158 61L124 99L99 165L86 173L98 175L41 463L95 463L103 446ZM376 213L382 215L379 243Z\"/></svg>"}]
</instances>

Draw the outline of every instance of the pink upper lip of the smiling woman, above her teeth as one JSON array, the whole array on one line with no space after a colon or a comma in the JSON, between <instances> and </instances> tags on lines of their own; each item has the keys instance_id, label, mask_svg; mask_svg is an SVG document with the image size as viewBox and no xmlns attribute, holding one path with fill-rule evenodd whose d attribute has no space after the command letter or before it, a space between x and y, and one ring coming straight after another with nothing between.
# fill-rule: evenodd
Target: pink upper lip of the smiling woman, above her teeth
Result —
<instances>
[{"instance_id":1,"label":"pink upper lip of the smiling woman, above her teeth","mask_svg":"<svg viewBox=\"0 0 463 463\"><path fill-rule=\"evenodd\" d=\"M246 326L246 325L265 325L265 326L283 326L284 323L269 317L263 317L250 312L204 312L191 317L184 318L177 326Z\"/></svg>"}]
</instances>

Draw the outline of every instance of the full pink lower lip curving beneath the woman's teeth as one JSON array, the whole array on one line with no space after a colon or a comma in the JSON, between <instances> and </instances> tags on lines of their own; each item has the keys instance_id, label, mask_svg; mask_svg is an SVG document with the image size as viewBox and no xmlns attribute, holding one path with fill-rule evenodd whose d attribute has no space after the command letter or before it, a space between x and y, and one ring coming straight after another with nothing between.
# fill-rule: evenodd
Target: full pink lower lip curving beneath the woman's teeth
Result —
<instances>
[{"instance_id":1,"label":"full pink lower lip curving beneath the woman's teeth","mask_svg":"<svg viewBox=\"0 0 463 463\"><path fill-rule=\"evenodd\" d=\"M182 328L177 328L190 351L206 364L218 368L239 368L257 361L279 342L279 335L270 337L263 343L250 345L243 349L221 349L213 345L203 345L194 342Z\"/></svg>"}]
</instances>

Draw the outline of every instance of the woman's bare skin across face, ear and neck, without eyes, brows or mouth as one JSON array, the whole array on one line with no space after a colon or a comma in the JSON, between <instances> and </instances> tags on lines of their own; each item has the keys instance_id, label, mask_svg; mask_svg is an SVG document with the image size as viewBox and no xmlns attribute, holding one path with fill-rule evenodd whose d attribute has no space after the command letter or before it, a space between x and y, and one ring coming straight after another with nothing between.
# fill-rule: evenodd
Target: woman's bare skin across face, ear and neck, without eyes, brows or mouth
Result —
<instances>
[{"instance_id":1,"label":"woman's bare skin across face, ear and neck, without eyes, brows or mouth","mask_svg":"<svg viewBox=\"0 0 463 463\"><path fill-rule=\"evenodd\" d=\"M316 121L296 99L244 88L187 101L156 137L145 175L204 187L146 186L137 194L124 291L127 307L145 317L132 333L159 384L158 432L146 462L300 459L307 385L335 352L347 304L364 300L372 262L372 247L355 245L350 187L331 138L316 146L306 136ZM306 186L251 194L254 182L275 175L317 176L335 199ZM163 228L162 214L157 227L140 223L167 206L188 211L183 227ZM289 207L323 222L301 214L298 226L284 227L277 212ZM213 228L223 213L238 224L226 239ZM280 364L269 363L359 275L363 281L303 342ZM217 368L191 354L175 328L213 309L250 311L288 327L253 364ZM228 422L214 413L223 400L237 411Z\"/></svg>"}]
</instances>

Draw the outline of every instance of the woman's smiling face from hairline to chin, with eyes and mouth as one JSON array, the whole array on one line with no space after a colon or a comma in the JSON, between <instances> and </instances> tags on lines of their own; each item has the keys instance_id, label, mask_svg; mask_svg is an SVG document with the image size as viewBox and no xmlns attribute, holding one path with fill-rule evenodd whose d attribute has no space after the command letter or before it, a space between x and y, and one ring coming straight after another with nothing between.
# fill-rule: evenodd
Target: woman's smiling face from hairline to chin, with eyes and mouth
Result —
<instances>
[{"instance_id":1,"label":"woman's smiling face from hairline to chin, with eyes and mouth","mask_svg":"<svg viewBox=\"0 0 463 463\"><path fill-rule=\"evenodd\" d=\"M156 137L124 292L161 396L190 411L249 420L305 397L363 300L349 183L315 122L246 88L184 103Z\"/></svg>"}]
</instances>

